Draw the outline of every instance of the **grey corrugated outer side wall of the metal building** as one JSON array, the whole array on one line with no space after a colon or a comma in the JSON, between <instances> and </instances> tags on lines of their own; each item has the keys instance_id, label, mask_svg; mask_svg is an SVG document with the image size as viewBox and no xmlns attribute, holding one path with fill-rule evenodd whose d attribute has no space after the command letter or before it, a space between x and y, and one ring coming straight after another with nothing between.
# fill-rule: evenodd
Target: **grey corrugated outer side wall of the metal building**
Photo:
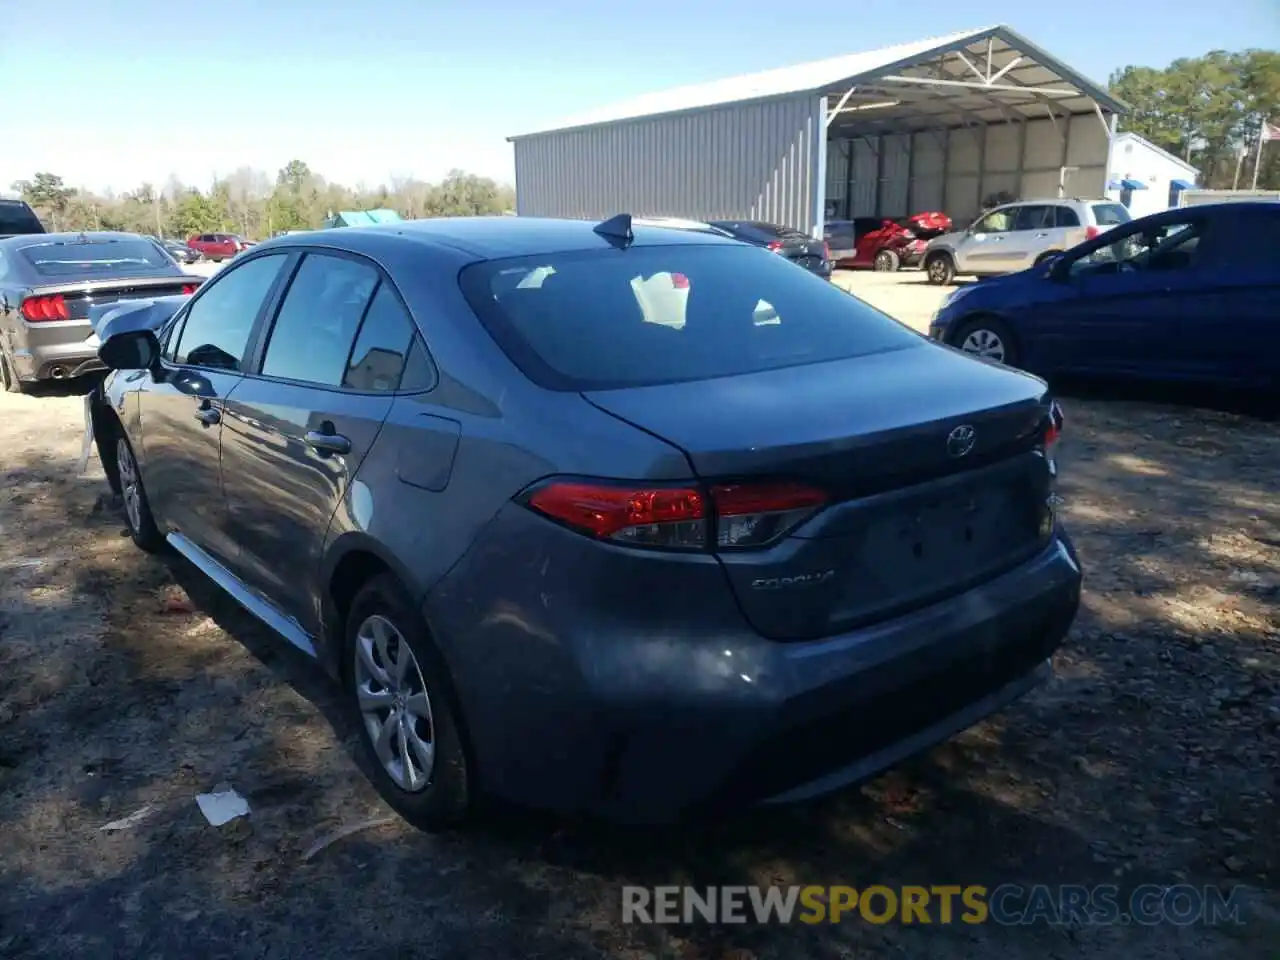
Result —
<instances>
[{"instance_id":1,"label":"grey corrugated outer side wall of the metal building","mask_svg":"<svg viewBox=\"0 0 1280 960\"><path fill-rule=\"evenodd\" d=\"M516 211L751 218L809 232L823 114L822 99L806 95L522 137Z\"/></svg>"}]
</instances>

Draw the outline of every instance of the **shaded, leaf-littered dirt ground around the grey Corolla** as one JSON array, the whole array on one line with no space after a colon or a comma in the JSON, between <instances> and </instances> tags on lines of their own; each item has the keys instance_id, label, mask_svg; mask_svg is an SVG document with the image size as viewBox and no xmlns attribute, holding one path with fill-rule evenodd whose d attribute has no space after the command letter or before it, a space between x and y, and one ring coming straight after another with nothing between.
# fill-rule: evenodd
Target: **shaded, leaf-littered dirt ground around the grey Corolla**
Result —
<instances>
[{"instance_id":1,"label":"shaded, leaf-littered dirt ground around the grey Corolla","mask_svg":"<svg viewBox=\"0 0 1280 960\"><path fill-rule=\"evenodd\" d=\"M392 819L307 856L389 814L326 681L133 548L96 461L76 474L79 399L0 394L0 956L1280 956L1280 429L1064 406L1084 611L1055 681L1001 717L861 790L712 827ZM215 828L195 797L224 782L251 814ZM620 923L625 883L1143 882L1247 884L1243 923Z\"/></svg>"}]
</instances>

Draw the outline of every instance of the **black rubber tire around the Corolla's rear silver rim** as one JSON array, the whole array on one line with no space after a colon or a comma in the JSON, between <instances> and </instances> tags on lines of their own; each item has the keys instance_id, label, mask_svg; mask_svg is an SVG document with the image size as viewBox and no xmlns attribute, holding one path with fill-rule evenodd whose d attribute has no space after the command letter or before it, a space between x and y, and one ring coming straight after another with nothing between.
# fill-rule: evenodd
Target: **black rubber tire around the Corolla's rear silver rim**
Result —
<instances>
[{"instance_id":1,"label":"black rubber tire around the Corolla's rear silver rim","mask_svg":"<svg viewBox=\"0 0 1280 960\"><path fill-rule=\"evenodd\" d=\"M398 637L407 641L413 658L404 673L411 678L411 686L416 686L420 681L426 692L429 714L426 727L430 733L430 744L434 748L434 763L426 776L426 785L417 790L403 787L388 772L379 758L374 733L361 709L358 689L362 684L358 675L366 668L357 664L357 658L361 657L361 628L370 618L381 618L389 622ZM398 646L399 639L394 643ZM394 653L398 653L398 649ZM413 666L419 671L417 678L413 678L411 672ZM462 826L476 809L475 791L472 790L475 764L467 748L457 692L444 658L433 643L421 613L415 609L399 581L389 573L372 577L360 589L351 603L343 644L342 677L346 689L346 709L353 726L360 731L361 751L369 777L383 799L419 829L438 832ZM385 691L390 692L390 689L387 687ZM378 692L383 692L383 690ZM398 695L404 704L401 713L408 717L411 723L417 724L415 733L421 737L424 730L421 713L416 718L410 716L408 700L404 699L403 689ZM393 722L390 719L393 709L387 709L388 718L384 723ZM379 709L379 716L380 713ZM403 732L394 735L397 742L403 741ZM392 749L394 753L394 748Z\"/></svg>"}]
</instances>

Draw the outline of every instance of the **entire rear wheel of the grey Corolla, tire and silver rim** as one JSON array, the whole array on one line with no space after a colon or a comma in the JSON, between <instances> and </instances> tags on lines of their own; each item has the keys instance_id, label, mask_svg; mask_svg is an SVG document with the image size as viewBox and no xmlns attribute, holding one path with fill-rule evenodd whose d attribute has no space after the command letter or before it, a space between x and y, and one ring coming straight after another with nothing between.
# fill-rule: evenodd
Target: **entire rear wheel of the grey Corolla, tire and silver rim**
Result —
<instances>
[{"instance_id":1,"label":"entire rear wheel of the grey Corolla, tire and silver rim","mask_svg":"<svg viewBox=\"0 0 1280 960\"><path fill-rule=\"evenodd\" d=\"M347 703L378 792L420 829L460 826L474 808L461 708L444 658L393 576L356 594L346 640Z\"/></svg>"}]
</instances>

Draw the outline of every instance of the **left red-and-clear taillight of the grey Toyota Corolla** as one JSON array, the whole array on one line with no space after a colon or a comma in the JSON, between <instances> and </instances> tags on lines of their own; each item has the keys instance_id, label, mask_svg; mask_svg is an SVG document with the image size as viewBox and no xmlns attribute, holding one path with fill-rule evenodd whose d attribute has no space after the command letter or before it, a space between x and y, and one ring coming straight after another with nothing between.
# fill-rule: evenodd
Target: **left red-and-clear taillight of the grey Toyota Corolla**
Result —
<instances>
[{"instance_id":1,"label":"left red-and-clear taillight of the grey Toyota Corolla","mask_svg":"<svg viewBox=\"0 0 1280 960\"><path fill-rule=\"evenodd\" d=\"M631 547L763 547L809 516L826 494L801 484L635 486L556 480L524 502L579 532Z\"/></svg>"}]
</instances>

